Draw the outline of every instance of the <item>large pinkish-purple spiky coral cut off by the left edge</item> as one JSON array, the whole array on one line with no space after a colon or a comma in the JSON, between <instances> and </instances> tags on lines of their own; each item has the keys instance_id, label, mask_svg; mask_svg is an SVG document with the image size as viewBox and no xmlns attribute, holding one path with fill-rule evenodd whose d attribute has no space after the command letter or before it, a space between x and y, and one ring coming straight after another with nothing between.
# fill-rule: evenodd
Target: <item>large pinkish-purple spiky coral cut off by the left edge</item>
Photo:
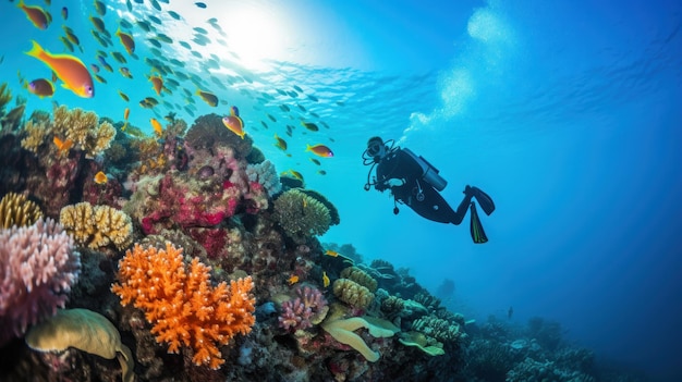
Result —
<instances>
[{"instance_id":1,"label":"large pinkish-purple spiky coral cut off by the left edge","mask_svg":"<svg viewBox=\"0 0 682 382\"><path fill-rule=\"evenodd\" d=\"M0 345L63 308L80 271L73 238L52 219L0 230Z\"/></svg>"}]
</instances>

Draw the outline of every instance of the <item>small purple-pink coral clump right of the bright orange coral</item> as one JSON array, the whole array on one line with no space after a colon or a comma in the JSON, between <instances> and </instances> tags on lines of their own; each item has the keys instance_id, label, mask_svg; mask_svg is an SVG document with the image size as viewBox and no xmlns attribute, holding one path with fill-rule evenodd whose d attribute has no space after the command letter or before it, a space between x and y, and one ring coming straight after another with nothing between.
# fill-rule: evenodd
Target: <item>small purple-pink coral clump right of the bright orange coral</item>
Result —
<instances>
[{"instance_id":1,"label":"small purple-pink coral clump right of the bright orange coral","mask_svg":"<svg viewBox=\"0 0 682 382\"><path fill-rule=\"evenodd\" d=\"M282 304L279 325L291 332L313 326L313 321L321 320L327 313L327 300L319 289L310 286L296 288L299 297Z\"/></svg>"}]
</instances>

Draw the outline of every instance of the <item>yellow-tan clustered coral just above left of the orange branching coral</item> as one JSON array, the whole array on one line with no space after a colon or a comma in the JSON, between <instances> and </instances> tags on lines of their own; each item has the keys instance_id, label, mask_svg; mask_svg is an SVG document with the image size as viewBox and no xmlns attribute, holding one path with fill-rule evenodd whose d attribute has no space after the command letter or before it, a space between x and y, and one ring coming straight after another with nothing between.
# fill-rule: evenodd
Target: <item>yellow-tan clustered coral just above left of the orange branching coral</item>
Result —
<instances>
[{"instance_id":1,"label":"yellow-tan clustered coral just above left of the orange branching coral","mask_svg":"<svg viewBox=\"0 0 682 382\"><path fill-rule=\"evenodd\" d=\"M109 244L123 249L131 244L133 223L123 211L83 201L62 208L59 222L76 243L93 249Z\"/></svg>"}]
</instances>

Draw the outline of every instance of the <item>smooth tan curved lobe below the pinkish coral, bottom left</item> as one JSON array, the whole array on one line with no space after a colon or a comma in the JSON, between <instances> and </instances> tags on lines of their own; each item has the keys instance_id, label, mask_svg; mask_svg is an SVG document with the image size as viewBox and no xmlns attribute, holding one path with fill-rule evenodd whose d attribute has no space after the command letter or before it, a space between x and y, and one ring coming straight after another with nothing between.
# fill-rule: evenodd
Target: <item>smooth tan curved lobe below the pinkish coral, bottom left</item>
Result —
<instances>
[{"instance_id":1,"label":"smooth tan curved lobe below the pinkish coral, bottom left","mask_svg":"<svg viewBox=\"0 0 682 382\"><path fill-rule=\"evenodd\" d=\"M133 382L133 354L121 343L119 330L103 316L87 309L59 310L28 331L26 344L38 352L63 352L69 347L121 363L123 382Z\"/></svg>"}]
</instances>

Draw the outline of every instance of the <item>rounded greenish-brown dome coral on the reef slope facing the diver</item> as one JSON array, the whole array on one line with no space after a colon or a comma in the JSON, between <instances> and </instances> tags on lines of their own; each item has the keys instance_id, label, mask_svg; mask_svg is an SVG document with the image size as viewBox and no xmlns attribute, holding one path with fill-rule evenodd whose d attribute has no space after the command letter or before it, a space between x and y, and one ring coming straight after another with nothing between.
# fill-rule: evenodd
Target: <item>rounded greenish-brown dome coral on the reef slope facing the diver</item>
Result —
<instances>
[{"instance_id":1,"label":"rounded greenish-brown dome coral on the reef slope facing the diver","mask_svg":"<svg viewBox=\"0 0 682 382\"><path fill-rule=\"evenodd\" d=\"M331 224L329 209L299 189L282 193L275 200L275 221L296 243L312 235L322 235Z\"/></svg>"}]
</instances>

